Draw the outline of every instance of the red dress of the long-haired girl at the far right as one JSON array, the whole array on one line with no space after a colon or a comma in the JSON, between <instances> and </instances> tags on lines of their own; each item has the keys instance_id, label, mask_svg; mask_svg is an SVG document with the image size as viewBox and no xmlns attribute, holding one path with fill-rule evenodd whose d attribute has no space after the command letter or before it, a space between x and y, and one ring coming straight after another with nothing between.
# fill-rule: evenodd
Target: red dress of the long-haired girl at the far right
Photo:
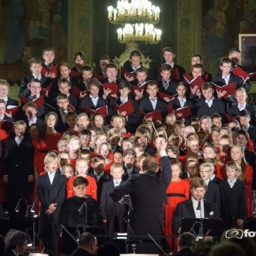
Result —
<instances>
[{"instance_id":1,"label":"red dress of the long-haired girl at the far right","mask_svg":"<svg viewBox=\"0 0 256 256\"><path fill-rule=\"evenodd\" d=\"M253 216L253 200L251 200L251 185L253 184L253 168L245 166L245 214L246 217Z\"/></svg>"}]
</instances>

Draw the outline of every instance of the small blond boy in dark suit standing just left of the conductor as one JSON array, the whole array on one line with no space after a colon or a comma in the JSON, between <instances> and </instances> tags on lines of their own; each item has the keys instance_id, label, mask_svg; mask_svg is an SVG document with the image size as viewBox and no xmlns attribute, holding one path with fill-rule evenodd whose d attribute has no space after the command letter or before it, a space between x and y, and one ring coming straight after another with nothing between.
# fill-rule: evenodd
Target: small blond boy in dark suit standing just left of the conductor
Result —
<instances>
[{"instance_id":1,"label":"small blond boy in dark suit standing just left of the conductor","mask_svg":"<svg viewBox=\"0 0 256 256\"><path fill-rule=\"evenodd\" d=\"M114 234L115 232L125 233L126 223L124 221L126 204L114 202L109 196L115 187L118 187L124 181L122 180L123 168L119 163L112 164L110 174L113 179L102 185L100 210L105 223L105 234ZM118 229L116 228L118 227Z\"/></svg>"}]
</instances>

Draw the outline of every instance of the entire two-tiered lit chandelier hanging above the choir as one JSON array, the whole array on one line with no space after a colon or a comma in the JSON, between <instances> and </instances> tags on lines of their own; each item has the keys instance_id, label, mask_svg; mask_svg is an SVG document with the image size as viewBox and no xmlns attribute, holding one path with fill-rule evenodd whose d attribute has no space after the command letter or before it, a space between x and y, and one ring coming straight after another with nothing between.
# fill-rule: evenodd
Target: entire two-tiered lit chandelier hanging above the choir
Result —
<instances>
[{"instance_id":1,"label":"entire two-tiered lit chandelier hanging above the choir","mask_svg":"<svg viewBox=\"0 0 256 256\"><path fill-rule=\"evenodd\" d=\"M117 1L117 9L108 7L108 19L112 24L121 24L118 28L118 42L144 42L157 44L162 31L154 28L160 20L160 9L148 0Z\"/></svg>"}]
</instances>

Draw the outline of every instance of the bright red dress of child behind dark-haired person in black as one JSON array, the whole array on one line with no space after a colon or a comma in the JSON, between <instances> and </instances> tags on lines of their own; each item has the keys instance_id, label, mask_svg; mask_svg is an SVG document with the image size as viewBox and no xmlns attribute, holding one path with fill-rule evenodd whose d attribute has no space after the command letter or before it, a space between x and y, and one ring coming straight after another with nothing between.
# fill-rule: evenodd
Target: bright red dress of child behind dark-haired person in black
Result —
<instances>
[{"instance_id":1,"label":"bright red dress of child behind dark-haired person in black","mask_svg":"<svg viewBox=\"0 0 256 256\"><path fill-rule=\"evenodd\" d=\"M67 198L75 196L75 191L73 188L73 180L76 179L77 176L70 177L67 182ZM85 195L92 196L93 199L97 200L97 184L94 177L85 176L85 179L89 181L89 185L86 188Z\"/></svg>"}]
</instances>

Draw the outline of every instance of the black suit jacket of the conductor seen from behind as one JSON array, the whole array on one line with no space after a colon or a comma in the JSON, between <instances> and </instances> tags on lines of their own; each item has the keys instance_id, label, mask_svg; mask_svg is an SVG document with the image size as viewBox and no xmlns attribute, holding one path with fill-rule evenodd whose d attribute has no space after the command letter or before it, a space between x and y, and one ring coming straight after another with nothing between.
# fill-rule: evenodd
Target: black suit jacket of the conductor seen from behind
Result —
<instances>
[{"instance_id":1,"label":"black suit jacket of the conductor seen from behind","mask_svg":"<svg viewBox=\"0 0 256 256\"><path fill-rule=\"evenodd\" d=\"M147 171L145 174L134 174L125 183L115 187L109 195L117 202L124 195L130 196L130 221L128 236L158 236L160 242L163 224L163 203L167 200L166 189L170 184L172 171L167 156L161 158L163 171L156 174Z\"/></svg>"}]
</instances>

